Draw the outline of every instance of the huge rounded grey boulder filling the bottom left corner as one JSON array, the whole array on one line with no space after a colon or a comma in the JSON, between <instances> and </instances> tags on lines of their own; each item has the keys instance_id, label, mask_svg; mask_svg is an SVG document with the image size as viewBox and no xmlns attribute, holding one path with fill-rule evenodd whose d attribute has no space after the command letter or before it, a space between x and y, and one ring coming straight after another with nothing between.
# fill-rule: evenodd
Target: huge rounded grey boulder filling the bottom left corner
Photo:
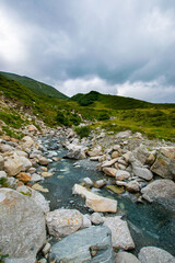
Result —
<instances>
[{"instance_id":1,"label":"huge rounded grey boulder filling the bottom left corner","mask_svg":"<svg viewBox=\"0 0 175 263\"><path fill-rule=\"evenodd\" d=\"M45 240L45 217L35 202L14 190L0 188L1 254L9 254L9 262L23 259L32 263Z\"/></svg>"}]
</instances>

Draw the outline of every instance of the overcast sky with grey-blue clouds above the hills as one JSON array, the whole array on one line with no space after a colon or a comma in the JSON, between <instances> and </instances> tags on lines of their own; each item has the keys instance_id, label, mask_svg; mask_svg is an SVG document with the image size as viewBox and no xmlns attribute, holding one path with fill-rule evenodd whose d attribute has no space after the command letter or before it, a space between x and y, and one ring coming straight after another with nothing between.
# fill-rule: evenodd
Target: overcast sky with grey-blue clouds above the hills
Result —
<instances>
[{"instance_id":1,"label":"overcast sky with grey-blue clouds above the hills","mask_svg":"<svg viewBox=\"0 0 175 263\"><path fill-rule=\"evenodd\" d=\"M0 70L175 102L175 1L0 0Z\"/></svg>"}]
</instances>

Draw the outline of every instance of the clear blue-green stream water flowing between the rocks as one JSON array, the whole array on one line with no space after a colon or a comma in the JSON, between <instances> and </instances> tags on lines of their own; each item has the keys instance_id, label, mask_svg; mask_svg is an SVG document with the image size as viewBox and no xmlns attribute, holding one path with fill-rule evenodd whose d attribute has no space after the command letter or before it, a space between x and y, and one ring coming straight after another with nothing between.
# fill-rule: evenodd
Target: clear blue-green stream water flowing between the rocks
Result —
<instances>
[{"instance_id":1,"label":"clear blue-green stream water flowing between the rocks","mask_svg":"<svg viewBox=\"0 0 175 263\"><path fill-rule=\"evenodd\" d=\"M45 140L44 145L54 150L57 148L57 141L58 139L50 138ZM61 147L54 151L60 158L66 155L66 150ZM49 152L46 152L46 157L49 155ZM45 179L40 184L49 190L49 193L44 193L44 195L50 201L51 210L75 208L83 214L93 213L85 207L84 199L78 195L72 195L72 187L75 183L81 183L83 178L91 178L92 181L104 179L104 174L96 170L96 164L97 162L89 160L75 161L69 159L61 159L49 164L48 170L54 173L54 176ZM129 193L117 195L106 187L93 188L92 191L97 191L97 194L102 196L117 199L118 211L116 215L122 215L122 219L127 220L129 225L136 244L136 250L132 251L135 254L142 247L153 245L175 255L175 215L159 204L136 203L137 197Z\"/></svg>"}]
</instances>

